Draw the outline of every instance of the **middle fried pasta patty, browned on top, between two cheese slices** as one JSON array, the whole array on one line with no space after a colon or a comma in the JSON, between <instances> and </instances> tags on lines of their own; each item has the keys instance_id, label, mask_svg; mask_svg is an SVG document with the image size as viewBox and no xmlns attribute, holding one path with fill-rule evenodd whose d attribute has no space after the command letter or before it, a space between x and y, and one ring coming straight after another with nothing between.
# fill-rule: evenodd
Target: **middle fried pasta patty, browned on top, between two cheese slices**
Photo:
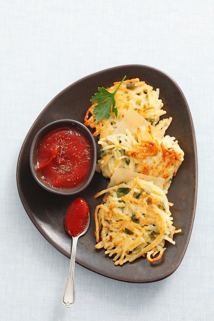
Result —
<instances>
[{"instance_id":1,"label":"middle fried pasta patty, browned on top, between two cheese slices","mask_svg":"<svg viewBox=\"0 0 214 321\"><path fill-rule=\"evenodd\" d=\"M115 168L126 168L164 178L165 192L184 160L184 152L175 137L157 138L151 126L137 128L133 134L126 129L126 134L106 136L98 144L102 146L98 164L104 177L111 178Z\"/></svg>"}]
</instances>

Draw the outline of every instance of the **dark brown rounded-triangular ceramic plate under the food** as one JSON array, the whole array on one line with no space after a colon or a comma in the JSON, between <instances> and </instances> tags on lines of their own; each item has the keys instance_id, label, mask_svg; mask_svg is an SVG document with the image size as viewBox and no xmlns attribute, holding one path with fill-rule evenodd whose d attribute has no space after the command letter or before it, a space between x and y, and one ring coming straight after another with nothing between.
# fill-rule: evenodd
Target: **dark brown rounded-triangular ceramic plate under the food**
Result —
<instances>
[{"instance_id":1,"label":"dark brown rounded-triangular ceramic plate under the food","mask_svg":"<svg viewBox=\"0 0 214 321\"><path fill-rule=\"evenodd\" d=\"M94 199L93 195L107 187L107 179L100 173L95 172L90 185L80 194L62 196L39 186L30 171L30 147L37 132L57 119L70 118L83 123L90 106L90 98L97 92L97 87L110 87L113 82L121 81L124 75L127 76L126 79L138 77L154 89L160 89L160 99L164 103L167 117L173 117L167 134L175 136L184 151L184 161L167 195L168 200L174 203L171 210L174 225L177 229L181 228L182 233L175 235L175 245L166 242L167 250L162 258L153 264L139 258L132 263L115 266L112 259L105 256L103 249L94 248L96 242L93 215L101 197ZM97 138L95 140L98 141ZM177 269L183 259L193 227L197 197L195 134L184 94L167 74L144 65L117 66L74 82L51 100L30 128L18 159L17 186L21 202L33 224L48 242L64 255L70 257L72 242L64 228L64 216L70 203L76 197L83 197L89 204L91 222L88 232L78 241L77 263L96 273L126 282L154 282L166 278Z\"/></svg>"}]
</instances>

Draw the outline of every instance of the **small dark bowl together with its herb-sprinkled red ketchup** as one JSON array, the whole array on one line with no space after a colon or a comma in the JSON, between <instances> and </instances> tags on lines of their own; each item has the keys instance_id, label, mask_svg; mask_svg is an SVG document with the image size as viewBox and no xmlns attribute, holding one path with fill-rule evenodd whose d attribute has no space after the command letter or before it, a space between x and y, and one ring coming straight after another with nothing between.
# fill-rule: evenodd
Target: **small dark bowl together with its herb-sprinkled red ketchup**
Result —
<instances>
[{"instance_id":1,"label":"small dark bowl together with its herb-sprinkled red ketchup","mask_svg":"<svg viewBox=\"0 0 214 321\"><path fill-rule=\"evenodd\" d=\"M95 171L96 144L88 128L62 119L37 133L30 150L36 181L50 192L74 195L85 189Z\"/></svg>"}]
</instances>

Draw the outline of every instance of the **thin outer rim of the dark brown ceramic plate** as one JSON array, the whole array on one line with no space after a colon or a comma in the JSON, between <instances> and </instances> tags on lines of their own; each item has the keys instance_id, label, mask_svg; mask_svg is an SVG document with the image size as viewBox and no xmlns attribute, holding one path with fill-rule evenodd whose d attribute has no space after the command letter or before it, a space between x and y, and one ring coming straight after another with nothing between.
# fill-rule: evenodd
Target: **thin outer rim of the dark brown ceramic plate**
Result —
<instances>
[{"instance_id":1,"label":"thin outer rim of the dark brown ceramic plate","mask_svg":"<svg viewBox=\"0 0 214 321\"><path fill-rule=\"evenodd\" d=\"M105 277L108 277L110 279L113 279L113 280L117 280L117 281L122 281L122 282L127 282L127 283L151 283L151 282L157 282L157 281L161 281L167 277L169 277L171 274L173 274L177 268L179 267L179 265L181 264L183 258L184 258L184 255L185 255L185 252L187 250L187 247L188 247L188 244L189 244L189 241L190 241L190 237L191 237L191 234L192 234L192 230L193 230L193 223L194 223L194 218L195 218L195 211L196 211L196 204L197 204L197 191L198 191L198 157L197 157L197 146L196 146L196 137L195 137L195 130L194 130L194 125L193 125L193 118L192 118L192 115L191 115L191 111L190 111L190 108L189 108L189 105L187 103L187 100L184 96L184 93L183 91L181 90L181 88L179 87L179 85L177 84L177 82L175 82L175 80L169 76L167 73L165 73L164 71L158 69L158 68L155 68L155 67L152 67L152 66L149 66L149 65L141 65L141 64L128 64L128 65L118 65L118 66L114 66L114 67L110 67L110 68L106 68L106 69L103 69L103 70L100 70L100 71L97 71L95 73L92 73L92 74L89 74L89 75L86 75L78 80L76 80L75 82L73 82L72 84L68 85L66 88L64 88L62 91L60 91L47 105L45 108L42 109L42 111L39 113L38 117L35 119L35 121L33 122L32 126L30 127L22 145L21 145L21 149L20 149L20 152L19 152L19 156L18 156L18 160L17 160L17 166L16 166L16 185L17 185L17 189L18 189L18 194L19 194L19 197L21 199L21 203L24 207L24 210L25 212L27 213L28 217L30 218L31 222L33 223L33 225L36 227L36 229L39 231L39 233L41 233L41 235L53 246L55 247L60 253L62 253L64 256L70 258L69 256L67 256L63 250L59 249L56 245L54 245L49 239L47 239L47 237L44 235L44 233L42 232L42 230L39 230L39 228L37 227L36 223L34 222L33 220L33 216L30 215L31 211L30 209L27 207L27 202L25 203L24 202L24 195L21 191L21 187L20 187L20 183L19 183L19 164L20 164L20 159L21 159L21 155L22 155L22 152L23 152L23 147L25 145L25 142L28 140L28 137L31 133L31 130L32 128L34 127L34 124L37 122L38 118L40 118L40 115L45 112L45 110L49 107L50 104L52 104L52 102L54 102L54 100L56 100L64 91L67 91L68 88L70 88L71 86L75 85L75 84L78 84L78 82L81 82L82 80L90 77L90 76L97 76L99 74L102 74L103 72L105 71L111 71L113 69L116 69L116 68L121 68L121 67L127 67L127 68L130 68L130 67L143 67L143 68L148 68L150 69L151 71L154 70L160 74L163 74L165 75L171 82L174 83L174 85L177 87L178 91L180 92L183 100L184 100L184 103L186 105L186 110L188 112L188 117L189 117L189 121L190 121L190 125L191 125L191 131L192 131L192 135L193 135L193 152L194 152L194 165L195 165L195 184L194 184L194 199L193 199L193 210L192 210L192 218L191 218L191 229L189 230L189 233L187 235L187 242L185 244L185 247L183 248L183 251L182 251L182 255L179 259L179 262L178 264L172 269L170 270L170 272L164 274L163 276L161 277L157 277L157 278L153 278L151 279L150 281L132 281L132 280L124 280L123 277L121 278L117 278L117 277L113 277L111 275L109 275L108 273L99 273L97 271L95 271L93 268L90 268L88 266L85 266L84 264L80 263L78 260L75 260L76 263L78 263L79 265L83 266L84 268L94 272L94 273L97 273L99 275L102 275L102 276L105 276ZM30 161L30 160L29 160Z\"/></svg>"}]
</instances>

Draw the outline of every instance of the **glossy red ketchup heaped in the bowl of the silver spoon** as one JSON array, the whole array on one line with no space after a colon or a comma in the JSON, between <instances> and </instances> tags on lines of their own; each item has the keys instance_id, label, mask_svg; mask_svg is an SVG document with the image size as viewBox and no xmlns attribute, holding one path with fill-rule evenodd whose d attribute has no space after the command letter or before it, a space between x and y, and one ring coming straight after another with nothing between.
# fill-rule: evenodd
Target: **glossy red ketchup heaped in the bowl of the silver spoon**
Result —
<instances>
[{"instance_id":1,"label":"glossy red ketchup heaped in the bowl of the silver spoon","mask_svg":"<svg viewBox=\"0 0 214 321\"><path fill-rule=\"evenodd\" d=\"M88 217L89 207L83 198L75 199L65 215L65 230L70 236L77 236L84 230Z\"/></svg>"}]
</instances>

